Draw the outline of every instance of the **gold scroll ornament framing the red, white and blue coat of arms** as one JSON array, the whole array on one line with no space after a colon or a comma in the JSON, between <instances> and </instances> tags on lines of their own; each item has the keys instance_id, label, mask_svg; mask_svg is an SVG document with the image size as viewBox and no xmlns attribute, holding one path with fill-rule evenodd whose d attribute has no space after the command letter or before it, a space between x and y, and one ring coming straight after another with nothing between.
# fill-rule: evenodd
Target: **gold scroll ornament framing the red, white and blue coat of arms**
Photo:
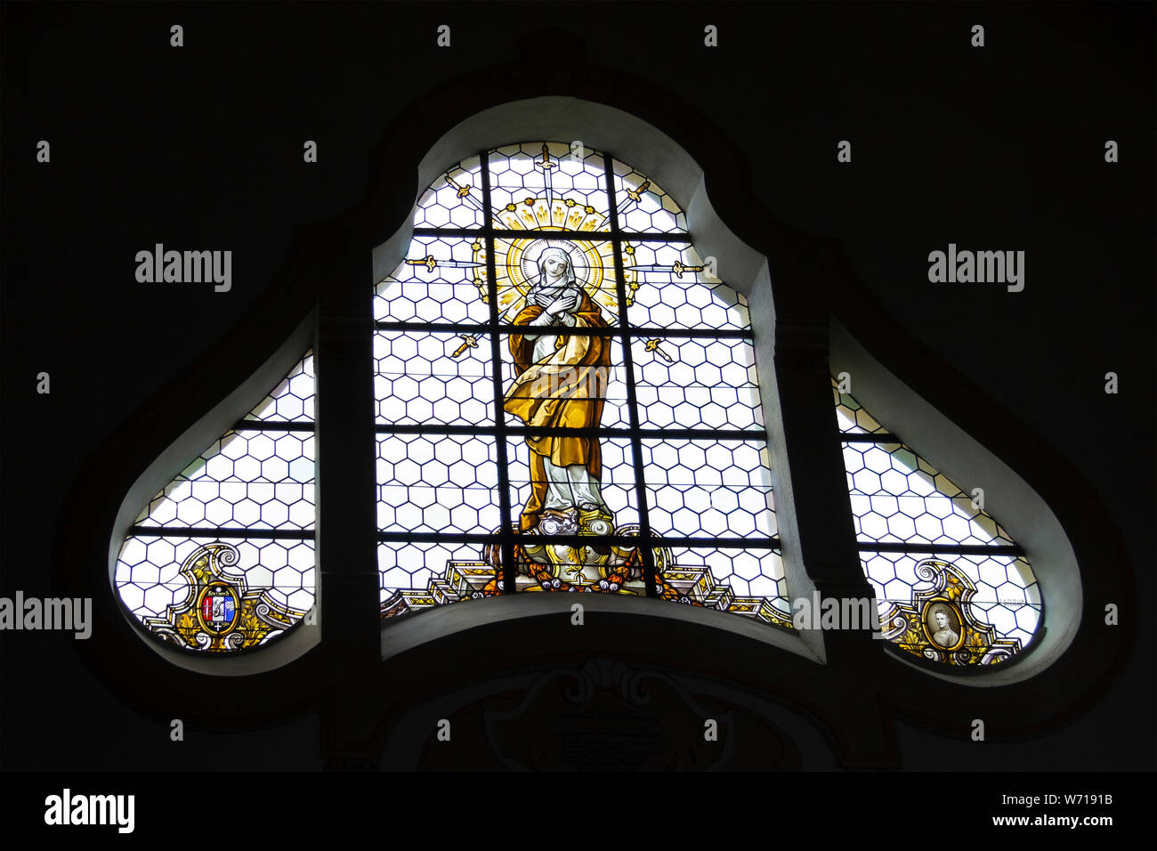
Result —
<instances>
[{"instance_id":1,"label":"gold scroll ornament framing the red, white and blue coat of arms","mask_svg":"<svg viewBox=\"0 0 1157 851\"><path fill-rule=\"evenodd\" d=\"M228 652L265 644L305 615L275 602L268 588L249 588L243 573L229 573L238 560L231 544L199 546L180 565L187 596L162 617L145 618L145 629L178 647Z\"/></svg>"}]
</instances>

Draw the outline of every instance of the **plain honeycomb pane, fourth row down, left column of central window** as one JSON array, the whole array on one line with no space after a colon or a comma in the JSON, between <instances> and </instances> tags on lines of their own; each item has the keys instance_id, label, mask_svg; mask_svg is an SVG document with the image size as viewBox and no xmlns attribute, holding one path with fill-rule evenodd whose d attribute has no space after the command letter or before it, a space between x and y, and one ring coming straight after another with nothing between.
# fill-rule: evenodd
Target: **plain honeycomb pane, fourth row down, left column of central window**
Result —
<instances>
[{"instance_id":1,"label":"plain honeycomb pane, fourth row down, left column of central window","mask_svg":"<svg viewBox=\"0 0 1157 851\"><path fill-rule=\"evenodd\" d=\"M494 438L379 434L377 485L383 531L479 534L501 526Z\"/></svg>"}]
</instances>

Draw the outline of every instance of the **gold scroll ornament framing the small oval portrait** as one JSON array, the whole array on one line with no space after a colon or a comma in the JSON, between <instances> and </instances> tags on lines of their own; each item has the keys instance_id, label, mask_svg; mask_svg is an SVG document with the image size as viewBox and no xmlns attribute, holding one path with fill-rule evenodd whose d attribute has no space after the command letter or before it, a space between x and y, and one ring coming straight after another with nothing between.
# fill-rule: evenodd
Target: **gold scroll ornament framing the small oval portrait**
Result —
<instances>
[{"instance_id":1,"label":"gold scroll ornament framing the small oval portrait","mask_svg":"<svg viewBox=\"0 0 1157 851\"><path fill-rule=\"evenodd\" d=\"M916 565L916 575L931 585L914 588L911 602L890 602L880 615L884 638L945 665L997 665L1020 652L1020 639L997 638L996 628L973 616L977 587L958 567L928 559Z\"/></svg>"}]
</instances>

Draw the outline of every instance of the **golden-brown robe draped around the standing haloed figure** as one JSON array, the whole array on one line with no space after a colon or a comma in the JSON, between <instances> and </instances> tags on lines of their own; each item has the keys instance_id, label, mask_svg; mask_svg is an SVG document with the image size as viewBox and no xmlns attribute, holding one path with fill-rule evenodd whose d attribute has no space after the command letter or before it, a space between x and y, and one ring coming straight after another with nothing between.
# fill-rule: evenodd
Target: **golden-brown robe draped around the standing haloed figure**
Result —
<instances>
[{"instance_id":1,"label":"golden-brown robe draped around the standing haloed figure","mask_svg":"<svg viewBox=\"0 0 1157 851\"><path fill-rule=\"evenodd\" d=\"M530 306L515 316L514 324L529 325L543 313ZM575 328L606 328L598 306L587 294L576 310L570 311ZM555 336L558 327L541 325L535 336ZM611 339L583 333L557 335L554 353L533 361L536 340L521 333L510 335L510 354L517 377L507 391L503 408L530 427L596 428L603 418L603 402L611 367ZM547 478L543 457L555 467L583 464L596 480L602 477L603 457L597 436L533 433L526 435L530 447L531 493L522 512L523 531L538 524L546 499Z\"/></svg>"}]
</instances>

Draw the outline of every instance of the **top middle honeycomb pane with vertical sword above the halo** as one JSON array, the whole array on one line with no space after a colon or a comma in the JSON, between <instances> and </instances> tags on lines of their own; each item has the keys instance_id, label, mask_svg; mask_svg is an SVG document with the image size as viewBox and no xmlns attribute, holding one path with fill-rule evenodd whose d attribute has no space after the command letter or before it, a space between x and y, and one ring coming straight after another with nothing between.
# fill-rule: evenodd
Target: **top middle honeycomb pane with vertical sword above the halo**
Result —
<instances>
[{"instance_id":1,"label":"top middle honeycomb pane with vertical sword above the halo","mask_svg":"<svg viewBox=\"0 0 1157 851\"><path fill-rule=\"evenodd\" d=\"M494 227L610 230L603 155L568 142L524 142L489 153Z\"/></svg>"}]
</instances>

